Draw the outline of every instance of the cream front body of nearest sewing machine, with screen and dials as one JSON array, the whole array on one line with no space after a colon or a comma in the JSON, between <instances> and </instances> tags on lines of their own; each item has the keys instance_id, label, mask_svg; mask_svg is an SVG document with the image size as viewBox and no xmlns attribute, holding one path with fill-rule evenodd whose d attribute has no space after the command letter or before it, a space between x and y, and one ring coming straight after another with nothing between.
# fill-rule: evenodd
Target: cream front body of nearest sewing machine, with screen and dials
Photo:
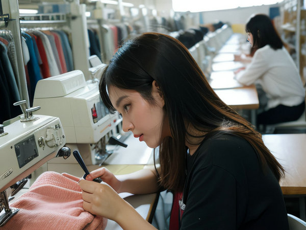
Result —
<instances>
[{"instance_id":1,"label":"cream front body of nearest sewing machine, with screen and dials","mask_svg":"<svg viewBox=\"0 0 306 230\"><path fill-rule=\"evenodd\" d=\"M0 134L0 192L30 175L56 156L66 143L59 118L36 115L2 127Z\"/></svg>"}]
</instances>

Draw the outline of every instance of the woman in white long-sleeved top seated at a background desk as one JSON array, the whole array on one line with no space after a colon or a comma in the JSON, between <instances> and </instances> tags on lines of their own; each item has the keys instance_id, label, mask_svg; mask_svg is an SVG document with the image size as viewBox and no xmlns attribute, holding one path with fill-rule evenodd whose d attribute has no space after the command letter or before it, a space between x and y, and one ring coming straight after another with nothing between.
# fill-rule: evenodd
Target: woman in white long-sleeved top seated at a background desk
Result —
<instances>
[{"instance_id":1,"label":"woman in white long-sleeved top seated at a background desk","mask_svg":"<svg viewBox=\"0 0 306 230\"><path fill-rule=\"evenodd\" d=\"M264 111L258 114L258 124L297 120L305 108L305 89L271 19L264 14L251 17L246 32L247 40L257 50L236 79L245 85L258 83L267 97Z\"/></svg>"}]
</instances>

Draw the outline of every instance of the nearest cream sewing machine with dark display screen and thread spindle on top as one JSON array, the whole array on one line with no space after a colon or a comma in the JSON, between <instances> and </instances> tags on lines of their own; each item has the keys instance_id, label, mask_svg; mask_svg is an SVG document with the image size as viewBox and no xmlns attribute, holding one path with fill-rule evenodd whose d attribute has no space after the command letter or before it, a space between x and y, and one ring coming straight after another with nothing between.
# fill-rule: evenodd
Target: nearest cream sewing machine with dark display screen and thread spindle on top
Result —
<instances>
[{"instance_id":1,"label":"nearest cream sewing machine with dark display screen and thread spindle on top","mask_svg":"<svg viewBox=\"0 0 306 230\"><path fill-rule=\"evenodd\" d=\"M11 209L9 197L27 182L27 177L55 156L69 156L63 147L66 137L59 118L33 115L40 107L20 105L23 115L7 126L0 125L0 226L19 210Z\"/></svg>"}]
</instances>

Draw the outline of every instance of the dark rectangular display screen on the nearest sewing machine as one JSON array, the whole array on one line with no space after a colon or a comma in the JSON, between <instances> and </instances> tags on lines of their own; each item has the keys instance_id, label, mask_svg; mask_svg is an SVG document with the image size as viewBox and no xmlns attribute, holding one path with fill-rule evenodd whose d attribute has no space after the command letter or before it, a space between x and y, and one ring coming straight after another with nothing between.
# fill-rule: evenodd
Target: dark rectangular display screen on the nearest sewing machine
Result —
<instances>
[{"instance_id":1,"label":"dark rectangular display screen on the nearest sewing machine","mask_svg":"<svg viewBox=\"0 0 306 230\"><path fill-rule=\"evenodd\" d=\"M37 146L34 134L22 140L15 145L15 152L19 164L19 168L28 164L38 156Z\"/></svg>"}]
</instances>

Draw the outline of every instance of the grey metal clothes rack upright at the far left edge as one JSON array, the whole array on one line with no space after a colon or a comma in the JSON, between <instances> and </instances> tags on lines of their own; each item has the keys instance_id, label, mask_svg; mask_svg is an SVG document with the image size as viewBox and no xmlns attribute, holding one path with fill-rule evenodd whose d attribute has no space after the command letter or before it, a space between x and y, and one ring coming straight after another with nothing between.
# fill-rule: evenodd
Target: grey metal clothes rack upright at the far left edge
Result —
<instances>
[{"instance_id":1,"label":"grey metal clothes rack upright at the far left edge","mask_svg":"<svg viewBox=\"0 0 306 230\"><path fill-rule=\"evenodd\" d=\"M16 76L17 86L21 100L27 101L28 108L30 107L29 95L27 89L27 79L25 77L23 55L21 48L21 35L19 26L19 8L18 0L1 0L0 1L0 21L1 29L6 29L12 32L15 43L16 61L17 61L17 72Z\"/></svg>"}]
</instances>

